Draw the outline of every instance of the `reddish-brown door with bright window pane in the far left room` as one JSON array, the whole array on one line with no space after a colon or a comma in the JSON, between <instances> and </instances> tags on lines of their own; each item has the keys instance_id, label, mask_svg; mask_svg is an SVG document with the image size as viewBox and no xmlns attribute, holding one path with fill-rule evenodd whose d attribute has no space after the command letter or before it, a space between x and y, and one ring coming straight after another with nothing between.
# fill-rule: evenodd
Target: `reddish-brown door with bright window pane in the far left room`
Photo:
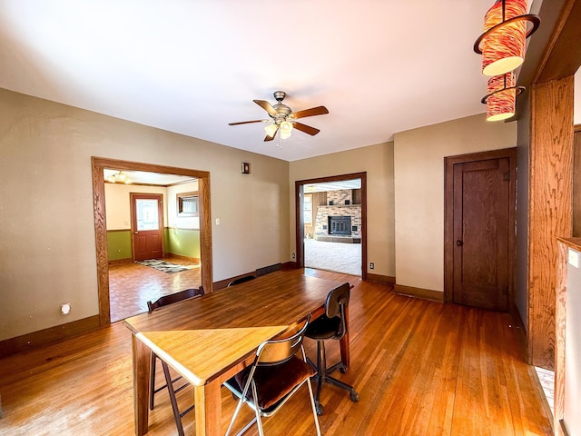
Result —
<instances>
[{"instance_id":1,"label":"reddish-brown door with bright window pane in the far left room","mask_svg":"<svg viewBox=\"0 0 581 436\"><path fill-rule=\"evenodd\" d=\"M162 259L162 195L132 193L133 257L136 261Z\"/></svg>"}]
</instances>

